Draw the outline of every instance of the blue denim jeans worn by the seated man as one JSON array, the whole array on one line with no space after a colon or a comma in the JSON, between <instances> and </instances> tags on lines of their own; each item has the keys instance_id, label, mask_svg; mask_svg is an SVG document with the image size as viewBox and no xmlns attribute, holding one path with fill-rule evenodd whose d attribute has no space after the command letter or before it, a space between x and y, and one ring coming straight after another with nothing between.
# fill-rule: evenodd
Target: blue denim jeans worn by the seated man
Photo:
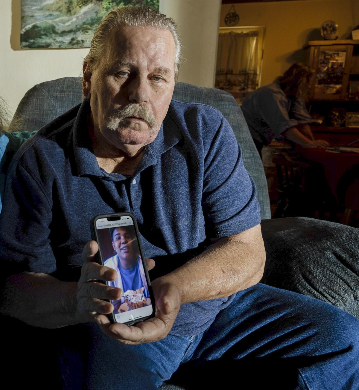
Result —
<instances>
[{"instance_id":1,"label":"blue denim jeans worn by the seated man","mask_svg":"<svg viewBox=\"0 0 359 390\"><path fill-rule=\"evenodd\" d=\"M95 323L67 332L60 364L64 388L72 390L156 389L184 363L197 373L187 381L209 388L233 381L239 388L359 388L359 320L329 303L260 283L237 293L198 335L125 346Z\"/></svg>"}]
</instances>

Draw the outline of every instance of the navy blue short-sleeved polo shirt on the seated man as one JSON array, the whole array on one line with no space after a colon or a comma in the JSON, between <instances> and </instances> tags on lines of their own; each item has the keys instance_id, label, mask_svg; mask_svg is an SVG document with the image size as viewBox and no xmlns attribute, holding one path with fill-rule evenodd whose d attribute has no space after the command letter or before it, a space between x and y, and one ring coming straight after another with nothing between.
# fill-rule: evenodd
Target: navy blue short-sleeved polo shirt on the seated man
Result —
<instances>
[{"instance_id":1,"label":"navy blue short-sleeved polo shirt on the seated man","mask_svg":"<svg viewBox=\"0 0 359 390\"><path fill-rule=\"evenodd\" d=\"M87 129L89 111L85 99L40 129L14 156L0 215L7 273L32 271L77 281L83 246L91 240L90 220L98 214L133 213L144 254L160 259L156 267L164 272L193 257L191 251L206 239L260 223L254 183L218 110L172 101L132 177L99 167ZM171 333L203 332L233 298L182 305Z\"/></svg>"}]
</instances>

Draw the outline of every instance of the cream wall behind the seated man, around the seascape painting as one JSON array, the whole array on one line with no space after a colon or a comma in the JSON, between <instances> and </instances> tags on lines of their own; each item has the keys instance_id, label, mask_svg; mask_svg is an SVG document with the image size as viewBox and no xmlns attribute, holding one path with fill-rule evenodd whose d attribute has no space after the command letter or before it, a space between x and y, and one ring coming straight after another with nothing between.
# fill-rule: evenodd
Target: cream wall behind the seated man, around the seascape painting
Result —
<instances>
[{"instance_id":1,"label":"cream wall behind the seated man, around the seascape painting","mask_svg":"<svg viewBox=\"0 0 359 390\"><path fill-rule=\"evenodd\" d=\"M160 10L178 23L186 63L179 81L211 87L220 0L160 0ZM20 49L20 0L0 0L0 94L13 113L25 92L37 83L80 76L89 49Z\"/></svg>"}]
</instances>

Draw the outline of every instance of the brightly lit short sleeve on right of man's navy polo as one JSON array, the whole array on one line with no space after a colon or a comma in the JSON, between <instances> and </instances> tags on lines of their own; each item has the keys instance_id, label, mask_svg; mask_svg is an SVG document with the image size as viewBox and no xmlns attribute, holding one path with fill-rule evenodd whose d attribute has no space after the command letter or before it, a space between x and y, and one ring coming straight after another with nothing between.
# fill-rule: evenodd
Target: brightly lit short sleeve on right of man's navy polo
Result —
<instances>
[{"instance_id":1,"label":"brightly lit short sleeve on right of man's navy polo","mask_svg":"<svg viewBox=\"0 0 359 390\"><path fill-rule=\"evenodd\" d=\"M255 184L224 117L204 160L202 208L210 238L231 236L261 221Z\"/></svg>"}]
</instances>

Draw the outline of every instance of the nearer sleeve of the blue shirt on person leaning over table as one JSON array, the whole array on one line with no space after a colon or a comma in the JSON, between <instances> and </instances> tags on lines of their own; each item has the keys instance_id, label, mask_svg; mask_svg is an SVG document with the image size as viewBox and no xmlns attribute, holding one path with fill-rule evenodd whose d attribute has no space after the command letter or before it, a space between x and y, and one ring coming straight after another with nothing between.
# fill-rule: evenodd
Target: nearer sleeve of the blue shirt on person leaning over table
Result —
<instances>
[{"instance_id":1,"label":"nearer sleeve of the blue shirt on person leaning over table","mask_svg":"<svg viewBox=\"0 0 359 390\"><path fill-rule=\"evenodd\" d=\"M298 124L296 119L290 118L288 99L280 91L263 89L259 94L258 110L268 127L274 131L275 138L280 138L286 129Z\"/></svg>"}]
</instances>

